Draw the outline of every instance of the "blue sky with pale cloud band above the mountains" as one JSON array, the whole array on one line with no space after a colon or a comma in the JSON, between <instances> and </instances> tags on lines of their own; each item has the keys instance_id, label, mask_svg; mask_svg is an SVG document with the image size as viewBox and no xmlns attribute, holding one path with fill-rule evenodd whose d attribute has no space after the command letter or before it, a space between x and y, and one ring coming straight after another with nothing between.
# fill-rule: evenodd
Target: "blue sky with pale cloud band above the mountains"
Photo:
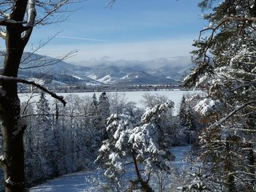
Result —
<instances>
[{"instance_id":1,"label":"blue sky with pale cloud band above the mountains","mask_svg":"<svg viewBox=\"0 0 256 192\"><path fill-rule=\"evenodd\" d=\"M67 61L83 65L181 58L189 56L193 39L206 26L198 0L117 0L112 8L105 6L109 1L69 5L75 11L64 22L34 28L26 51L56 36L37 53L59 56L78 50Z\"/></svg>"}]
</instances>

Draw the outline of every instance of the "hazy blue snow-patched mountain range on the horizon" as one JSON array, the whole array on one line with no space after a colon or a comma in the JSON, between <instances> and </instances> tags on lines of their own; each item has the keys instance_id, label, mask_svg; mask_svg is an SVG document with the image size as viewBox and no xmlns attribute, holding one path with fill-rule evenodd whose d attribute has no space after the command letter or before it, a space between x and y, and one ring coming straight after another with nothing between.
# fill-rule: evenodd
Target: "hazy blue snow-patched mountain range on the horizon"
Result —
<instances>
[{"instance_id":1,"label":"hazy blue snow-patched mountain range on the horizon","mask_svg":"<svg viewBox=\"0 0 256 192\"><path fill-rule=\"evenodd\" d=\"M0 62L3 62L1 56ZM139 61L138 64L136 61L108 61L95 66L78 66L59 58L24 53L19 77L48 85L161 84L177 83L189 67L189 64L173 66L167 62L157 66L157 61L143 61L143 64Z\"/></svg>"}]
</instances>

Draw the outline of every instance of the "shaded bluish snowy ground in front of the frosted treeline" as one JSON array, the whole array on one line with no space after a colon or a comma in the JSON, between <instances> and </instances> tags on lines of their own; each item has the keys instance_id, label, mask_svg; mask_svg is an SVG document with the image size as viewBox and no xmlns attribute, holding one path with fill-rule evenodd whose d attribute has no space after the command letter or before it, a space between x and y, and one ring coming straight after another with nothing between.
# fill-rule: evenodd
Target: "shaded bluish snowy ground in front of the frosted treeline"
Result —
<instances>
[{"instance_id":1,"label":"shaded bluish snowy ground in front of the frosted treeline","mask_svg":"<svg viewBox=\"0 0 256 192\"><path fill-rule=\"evenodd\" d=\"M176 161L173 165L177 167L184 166L182 162L184 153L189 151L189 146L173 147L171 152L176 155ZM133 173L133 170L130 172ZM86 178L86 180L85 180ZM62 177L58 177L54 180L50 180L42 185L37 185L31 188L31 192L94 192L101 191L101 185L103 183L102 174L95 170L94 172L77 172L73 174L67 174Z\"/></svg>"}]
</instances>

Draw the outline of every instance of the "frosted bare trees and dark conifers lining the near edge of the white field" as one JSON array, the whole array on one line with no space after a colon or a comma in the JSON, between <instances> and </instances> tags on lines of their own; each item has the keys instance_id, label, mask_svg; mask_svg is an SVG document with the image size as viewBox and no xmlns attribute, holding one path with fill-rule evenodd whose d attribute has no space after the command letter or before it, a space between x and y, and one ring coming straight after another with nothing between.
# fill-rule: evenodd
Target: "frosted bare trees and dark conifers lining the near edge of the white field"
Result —
<instances>
[{"instance_id":1,"label":"frosted bare trees and dark conifers lining the near edge of the white field","mask_svg":"<svg viewBox=\"0 0 256 192\"><path fill-rule=\"evenodd\" d=\"M21 104L21 115L27 128L24 134L25 172L28 185L42 183L62 174L94 169L102 141L110 136L106 131L106 119L111 114L129 115L140 120L147 107L167 101L167 97L146 93L141 100L144 109L127 101L124 93L102 93L97 96L80 97L70 94L65 98L67 106L48 101L45 94L36 102ZM169 114L176 128L182 127L178 118ZM178 129L177 129L178 130ZM186 143L184 134L171 142Z\"/></svg>"}]
</instances>

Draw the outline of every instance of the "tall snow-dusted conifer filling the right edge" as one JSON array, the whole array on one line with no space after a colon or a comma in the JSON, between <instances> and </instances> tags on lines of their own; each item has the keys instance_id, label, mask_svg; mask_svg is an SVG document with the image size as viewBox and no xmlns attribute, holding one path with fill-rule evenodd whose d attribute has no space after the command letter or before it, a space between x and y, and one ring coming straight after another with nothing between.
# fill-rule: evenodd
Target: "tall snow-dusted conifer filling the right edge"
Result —
<instances>
[{"instance_id":1,"label":"tall snow-dusted conifer filling the right edge","mask_svg":"<svg viewBox=\"0 0 256 192\"><path fill-rule=\"evenodd\" d=\"M207 118L201 159L221 178L223 191L255 191L256 2L203 0L213 11L195 41L197 65L185 85L206 88L195 110ZM210 34L203 38L203 33ZM208 54L208 53L211 54ZM216 180L219 183L219 180Z\"/></svg>"}]
</instances>

